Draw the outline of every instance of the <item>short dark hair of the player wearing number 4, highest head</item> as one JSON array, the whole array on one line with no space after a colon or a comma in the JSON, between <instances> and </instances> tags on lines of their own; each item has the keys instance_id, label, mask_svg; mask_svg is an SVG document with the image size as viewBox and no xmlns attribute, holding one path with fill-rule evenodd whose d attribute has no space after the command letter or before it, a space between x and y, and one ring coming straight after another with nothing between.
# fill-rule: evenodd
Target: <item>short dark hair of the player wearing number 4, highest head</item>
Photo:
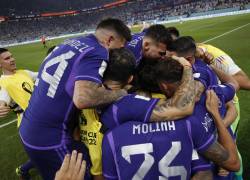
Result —
<instances>
[{"instance_id":1,"label":"short dark hair of the player wearing number 4, highest head","mask_svg":"<svg viewBox=\"0 0 250 180\"><path fill-rule=\"evenodd\" d=\"M124 24L123 21L120 19L114 19L114 18L107 18L102 20L98 25L96 29L108 29L111 31L116 32L120 37L123 37L126 39L126 41L131 41L131 31L129 27Z\"/></svg>"}]
</instances>

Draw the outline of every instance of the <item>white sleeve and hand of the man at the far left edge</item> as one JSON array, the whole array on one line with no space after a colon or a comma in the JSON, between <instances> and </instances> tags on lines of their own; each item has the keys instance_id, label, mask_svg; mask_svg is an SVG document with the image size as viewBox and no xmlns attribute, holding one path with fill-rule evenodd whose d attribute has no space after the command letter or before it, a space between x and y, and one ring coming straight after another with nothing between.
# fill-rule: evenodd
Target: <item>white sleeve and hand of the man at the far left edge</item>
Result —
<instances>
[{"instance_id":1,"label":"white sleeve and hand of the man at the far left edge","mask_svg":"<svg viewBox=\"0 0 250 180\"><path fill-rule=\"evenodd\" d=\"M11 101L11 98L8 92L4 88L1 88L0 90L0 117L6 117L8 113L10 112L10 107L8 106L10 101Z\"/></svg>"}]
</instances>

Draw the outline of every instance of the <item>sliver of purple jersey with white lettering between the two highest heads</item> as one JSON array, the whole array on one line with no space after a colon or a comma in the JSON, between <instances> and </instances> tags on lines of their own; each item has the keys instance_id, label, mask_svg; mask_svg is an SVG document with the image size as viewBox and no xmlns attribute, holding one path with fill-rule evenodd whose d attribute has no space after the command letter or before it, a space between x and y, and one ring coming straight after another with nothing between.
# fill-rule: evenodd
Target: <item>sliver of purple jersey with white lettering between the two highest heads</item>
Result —
<instances>
[{"instance_id":1,"label":"sliver of purple jersey with white lettering between the two highest heads","mask_svg":"<svg viewBox=\"0 0 250 180\"><path fill-rule=\"evenodd\" d=\"M145 32L133 34L132 40L126 44L126 48L135 56L136 65L138 65L142 59L142 41L144 36Z\"/></svg>"}]
</instances>

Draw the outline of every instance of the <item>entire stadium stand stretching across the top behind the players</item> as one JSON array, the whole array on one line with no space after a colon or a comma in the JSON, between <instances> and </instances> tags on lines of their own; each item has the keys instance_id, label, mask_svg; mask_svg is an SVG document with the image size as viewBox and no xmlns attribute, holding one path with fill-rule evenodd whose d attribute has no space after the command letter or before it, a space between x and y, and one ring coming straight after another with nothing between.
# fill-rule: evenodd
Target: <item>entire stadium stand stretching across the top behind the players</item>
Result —
<instances>
[{"instance_id":1,"label":"entire stadium stand stretching across the top behind the players","mask_svg":"<svg viewBox=\"0 0 250 180\"><path fill-rule=\"evenodd\" d=\"M14 3L14 0L7 1L4 6L0 4L0 7L5 7L1 8L0 16L7 17L7 20L0 21L1 45L40 39L43 35L51 37L84 32L93 29L105 17L120 18L134 25L143 21L166 21L250 8L249 0L120 0L117 4L111 0L88 0L86 3L64 0L65 3L58 7L53 1L40 2L39 8L36 1L25 9L18 8L20 3ZM10 9L11 6L15 8ZM61 13L45 14L49 11Z\"/></svg>"}]
</instances>

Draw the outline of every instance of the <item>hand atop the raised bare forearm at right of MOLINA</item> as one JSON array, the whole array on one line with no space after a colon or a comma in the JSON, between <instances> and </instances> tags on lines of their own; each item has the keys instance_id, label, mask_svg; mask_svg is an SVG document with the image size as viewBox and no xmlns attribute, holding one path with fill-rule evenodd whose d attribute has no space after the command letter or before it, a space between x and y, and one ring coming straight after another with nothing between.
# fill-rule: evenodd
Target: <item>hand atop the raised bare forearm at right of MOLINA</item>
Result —
<instances>
[{"instance_id":1,"label":"hand atop the raised bare forearm at right of MOLINA","mask_svg":"<svg viewBox=\"0 0 250 180\"><path fill-rule=\"evenodd\" d=\"M213 90L207 90L206 108L212 115L219 112L219 98Z\"/></svg>"}]
</instances>

